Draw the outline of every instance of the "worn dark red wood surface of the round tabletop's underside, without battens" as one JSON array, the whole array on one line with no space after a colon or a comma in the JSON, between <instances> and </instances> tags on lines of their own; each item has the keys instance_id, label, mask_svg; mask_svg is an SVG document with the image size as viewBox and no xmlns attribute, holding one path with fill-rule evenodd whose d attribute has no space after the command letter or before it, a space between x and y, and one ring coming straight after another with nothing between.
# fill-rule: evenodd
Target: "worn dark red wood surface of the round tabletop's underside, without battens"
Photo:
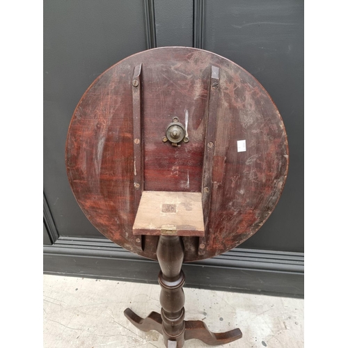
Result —
<instances>
[{"instance_id":1,"label":"worn dark red wood surface of the round tabletop's underside, without battens","mask_svg":"<svg viewBox=\"0 0 348 348\"><path fill-rule=\"evenodd\" d=\"M251 237L274 210L289 157L283 120L267 92L251 74L211 52L150 49L125 58L93 82L74 111L66 143L74 196L103 235L129 251L157 259L158 237L143 236L142 250L132 235L139 204L134 191L132 77L139 64L143 189L210 195L204 248L199 249L199 237L182 237L184 261L228 251ZM216 141L210 191L204 193L212 65L220 72ZM184 124L185 110L189 142L175 148L162 138L174 116ZM237 152L240 140L246 141L245 152Z\"/></svg>"}]
</instances>

